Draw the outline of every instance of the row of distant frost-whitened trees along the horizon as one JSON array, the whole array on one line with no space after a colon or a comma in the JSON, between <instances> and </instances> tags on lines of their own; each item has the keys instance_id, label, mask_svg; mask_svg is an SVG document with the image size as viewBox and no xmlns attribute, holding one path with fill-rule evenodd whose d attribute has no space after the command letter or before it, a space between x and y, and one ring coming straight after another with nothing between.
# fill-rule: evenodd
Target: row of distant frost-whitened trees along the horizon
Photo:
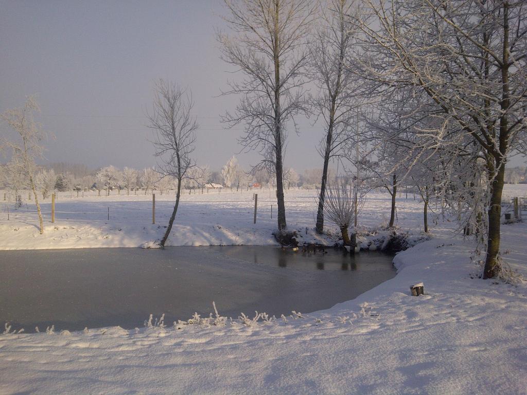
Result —
<instances>
[{"instance_id":1,"label":"row of distant frost-whitened trees along the horizon","mask_svg":"<svg viewBox=\"0 0 527 395\"><path fill-rule=\"evenodd\" d=\"M58 170L58 171L57 171ZM322 169L307 169L298 174L288 168L284 172L284 183L287 189L303 186L309 189L320 188ZM330 175L334 175L330 169ZM115 166L101 167L90 171L84 165L53 163L48 167L35 167L35 188L44 199L53 191L86 191L98 190L106 194L112 190L130 191L149 190L167 193L174 190L177 181L172 176L162 176L157 170L147 168L136 170L132 167L119 169ZM199 189L206 185L222 185L232 189L246 189L252 185L276 187L276 178L266 170L249 173L232 156L220 171L210 171L208 166L196 168L193 174L183 180L183 189ZM29 181L25 173L13 171L13 163L0 165L0 187L12 190L17 195L19 190L28 189Z\"/></svg>"}]
</instances>

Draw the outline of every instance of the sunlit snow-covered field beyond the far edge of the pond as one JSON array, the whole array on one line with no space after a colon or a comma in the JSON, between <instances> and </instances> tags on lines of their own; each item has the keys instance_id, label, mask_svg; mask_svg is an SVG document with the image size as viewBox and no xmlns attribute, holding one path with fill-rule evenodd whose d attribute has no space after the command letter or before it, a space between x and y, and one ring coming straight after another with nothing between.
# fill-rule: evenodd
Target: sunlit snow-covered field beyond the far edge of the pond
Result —
<instances>
[{"instance_id":1,"label":"sunlit snow-covered field beyond the far edge of the pond","mask_svg":"<svg viewBox=\"0 0 527 395\"><path fill-rule=\"evenodd\" d=\"M253 192L258 194L256 224L253 224ZM167 245L276 244L271 235L277 226L275 192L269 189L253 192L218 193L211 190L203 194L183 194ZM312 230L316 218L316 194L316 190L286 191L286 215L289 229L297 229L309 241L323 242ZM138 247L161 238L174 199L173 194L156 193L156 224L152 224L150 193L126 195L122 192L117 195L112 192L110 196L97 196L96 192L90 192L90 196L86 194L85 197L69 196L69 193L58 196L55 223L51 223L51 200L48 198L42 203L43 235L38 232L34 204L24 201L18 210L14 209L13 203L9 204L9 221L8 204L1 204L0 249ZM377 226L386 222L389 204L387 193L370 193L359 224ZM404 193L398 197L397 224L403 229L419 232L423 228L421 212L422 203L418 197L415 201L410 193L407 199ZM339 234L336 226L329 222L326 226Z\"/></svg>"}]
</instances>

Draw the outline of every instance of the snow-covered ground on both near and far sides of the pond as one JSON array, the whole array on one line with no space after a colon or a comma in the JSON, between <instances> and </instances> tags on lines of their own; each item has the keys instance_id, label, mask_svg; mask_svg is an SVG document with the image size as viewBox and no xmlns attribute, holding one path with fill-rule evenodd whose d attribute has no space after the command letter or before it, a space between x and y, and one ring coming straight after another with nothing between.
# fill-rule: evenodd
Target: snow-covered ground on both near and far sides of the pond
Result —
<instances>
[{"instance_id":1,"label":"snow-covered ground on both near and far sides of the pond","mask_svg":"<svg viewBox=\"0 0 527 395\"><path fill-rule=\"evenodd\" d=\"M266 232L274 220L252 225L251 196L243 204L219 203L226 195L215 197L216 203L183 204L171 244L273 243ZM307 215L314 211L313 191L288 197L289 225L313 226ZM101 209L111 204L116 212L130 204L100 199L106 199L97 203ZM17 225L2 221L2 245L139 245L160 230L140 214L148 202L135 203L135 215L117 215L115 222L63 218L56 223L59 230L42 240L29 218L19 218ZM62 204L81 205L75 199ZM378 225L386 213L387 196L372 196L362 222ZM147 230L128 234L140 221ZM418 233L421 204L412 196L400 198L398 223ZM83 230L75 232L79 224ZM478 279L480 268L470 260L475 245L453 235L452 226L440 220L432 240L397 254L394 279L302 317L0 335L0 393L527 393L527 284ZM527 275L527 223L502 230L504 258ZM48 242L53 246L46 247ZM426 295L410 296L409 286L421 281Z\"/></svg>"}]
</instances>

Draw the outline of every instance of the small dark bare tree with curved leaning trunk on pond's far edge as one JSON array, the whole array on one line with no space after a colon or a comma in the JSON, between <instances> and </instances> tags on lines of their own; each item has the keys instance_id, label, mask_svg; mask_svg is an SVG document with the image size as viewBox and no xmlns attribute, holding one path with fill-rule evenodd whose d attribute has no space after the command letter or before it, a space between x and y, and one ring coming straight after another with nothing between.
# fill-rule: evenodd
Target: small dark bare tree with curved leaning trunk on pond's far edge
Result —
<instances>
[{"instance_id":1,"label":"small dark bare tree with curved leaning trunk on pond's far edge","mask_svg":"<svg viewBox=\"0 0 527 395\"><path fill-rule=\"evenodd\" d=\"M160 160L159 172L162 176L173 176L178 182L174 209L170 216L167 231L160 245L163 248L170 235L175 215L178 212L181 184L188 177L190 169L196 166L190 155L194 151L198 123L192 116L192 94L178 85L159 80L155 85L152 113L147 114L150 127L155 131L153 141L155 156Z\"/></svg>"}]
</instances>

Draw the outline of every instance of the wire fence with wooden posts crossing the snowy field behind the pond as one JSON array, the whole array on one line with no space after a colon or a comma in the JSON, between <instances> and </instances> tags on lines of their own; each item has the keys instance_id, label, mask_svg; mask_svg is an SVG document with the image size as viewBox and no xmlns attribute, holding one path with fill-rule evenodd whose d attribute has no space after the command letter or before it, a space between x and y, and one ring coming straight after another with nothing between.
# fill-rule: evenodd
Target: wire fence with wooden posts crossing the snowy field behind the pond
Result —
<instances>
[{"instance_id":1,"label":"wire fence with wooden posts crossing the snowy field behind the pond","mask_svg":"<svg viewBox=\"0 0 527 395\"><path fill-rule=\"evenodd\" d=\"M269 193L269 190L264 190L264 194L261 194L258 190L256 191L244 191L245 196L240 193L239 195L225 195L226 199L215 200L216 197L207 199L206 197L199 197L192 195L192 199L189 200L188 195L181 196L180 207L178 215L188 215L199 218L199 216L228 216L229 218L237 218L241 222L253 221L255 200L254 195L258 194L257 202L257 220L258 221L270 221L276 220L277 218L277 202L274 199L273 191ZM316 190L304 190L305 195L289 195L294 200L285 200L286 212L292 215L304 216L305 218L316 219L317 213L317 191ZM206 195L206 194L204 194ZM263 196L262 196L263 195ZM269 195L271 197L269 197ZM148 196L148 195L147 195ZM156 198L159 199L159 195L156 194ZM163 196L168 196L164 194ZM232 196L232 197L231 197ZM240 199L235 199L235 197ZM111 195L111 200L98 201L91 199L84 201L82 199L64 199L65 196L56 200L54 215L57 221L79 221L79 222L139 222L139 223L152 223L152 202L150 200L122 200L115 199L116 195ZM75 196L73 196L75 197ZM106 196L108 197L108 196ZM123 196L121 196L123 197ZM209 196L210 197L210 196ZM401 196L403 199L405 195ZM406 197L406 199L412 199L412 196ZM168 218L172 213L173 209L173 196L170 196L170 200L156 200L155 201L155 219L160 222L165 218ZM52 207L51 199L47 199L41 202L41 212L46 222L52 220ZM518 217L527 218L527 197L518 197ZM506 216L508 213L514 214L514 199L505 197L502 204L502 215ZM516 218L516 214L515 218ZM4 201L0 203L0 222L5 221L37 221L37 210L34 202L31 200L17 200L17 201Z\"/></svg>"}]
</instances>

